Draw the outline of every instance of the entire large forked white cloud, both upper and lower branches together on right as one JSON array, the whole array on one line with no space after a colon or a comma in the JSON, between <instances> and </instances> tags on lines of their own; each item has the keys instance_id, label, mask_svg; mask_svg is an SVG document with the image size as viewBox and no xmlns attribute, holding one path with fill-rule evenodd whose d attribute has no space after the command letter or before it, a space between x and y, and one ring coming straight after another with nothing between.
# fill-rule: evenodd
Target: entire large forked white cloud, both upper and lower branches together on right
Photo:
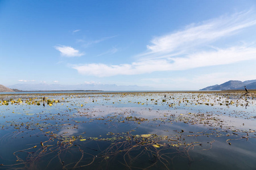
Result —
<instances>
[{"instance_id":1,"label":"entire large forked white cloud, both upper and lower branches together on right","mask_svg":"<svg viewBox=\"0 0 256 170\"><path fill-rule=\"evenodd\" d=\"M80 74L94 76L135 75L154 71L187 70L197 67L226 65L240 61L256 60L256 46L242 44L228 48L213 47L211 43L232 36L244 28L256 25L253 12L239 12L221 16L183 30L155 37L147 45L147 52L139 54L138 61L120 65L90 63L72 65ZM207 45L207 49L205 46Z\"/></svg>"}]
</instances>

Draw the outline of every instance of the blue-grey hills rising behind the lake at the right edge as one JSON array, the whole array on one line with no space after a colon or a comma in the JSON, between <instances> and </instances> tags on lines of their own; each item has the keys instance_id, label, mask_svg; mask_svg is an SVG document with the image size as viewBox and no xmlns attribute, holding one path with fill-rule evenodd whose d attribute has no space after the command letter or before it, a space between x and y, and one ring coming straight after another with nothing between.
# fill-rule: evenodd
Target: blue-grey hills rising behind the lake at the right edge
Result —
<instances>
[{"instance_id":1,"label":"blue-grey hills rising behind the lake at the right edge","mask_svg":"<svg viewBox=\"0 0 256 170\"><path fill-rule=\"evenodd\" d=\"M223 84L208 86L200 90L243 90L245 89L244 86L246 86L248 90L256 89L256 80L246 80L244 82L239 80L229 80Z\"/></svg>"}]
</instances>

